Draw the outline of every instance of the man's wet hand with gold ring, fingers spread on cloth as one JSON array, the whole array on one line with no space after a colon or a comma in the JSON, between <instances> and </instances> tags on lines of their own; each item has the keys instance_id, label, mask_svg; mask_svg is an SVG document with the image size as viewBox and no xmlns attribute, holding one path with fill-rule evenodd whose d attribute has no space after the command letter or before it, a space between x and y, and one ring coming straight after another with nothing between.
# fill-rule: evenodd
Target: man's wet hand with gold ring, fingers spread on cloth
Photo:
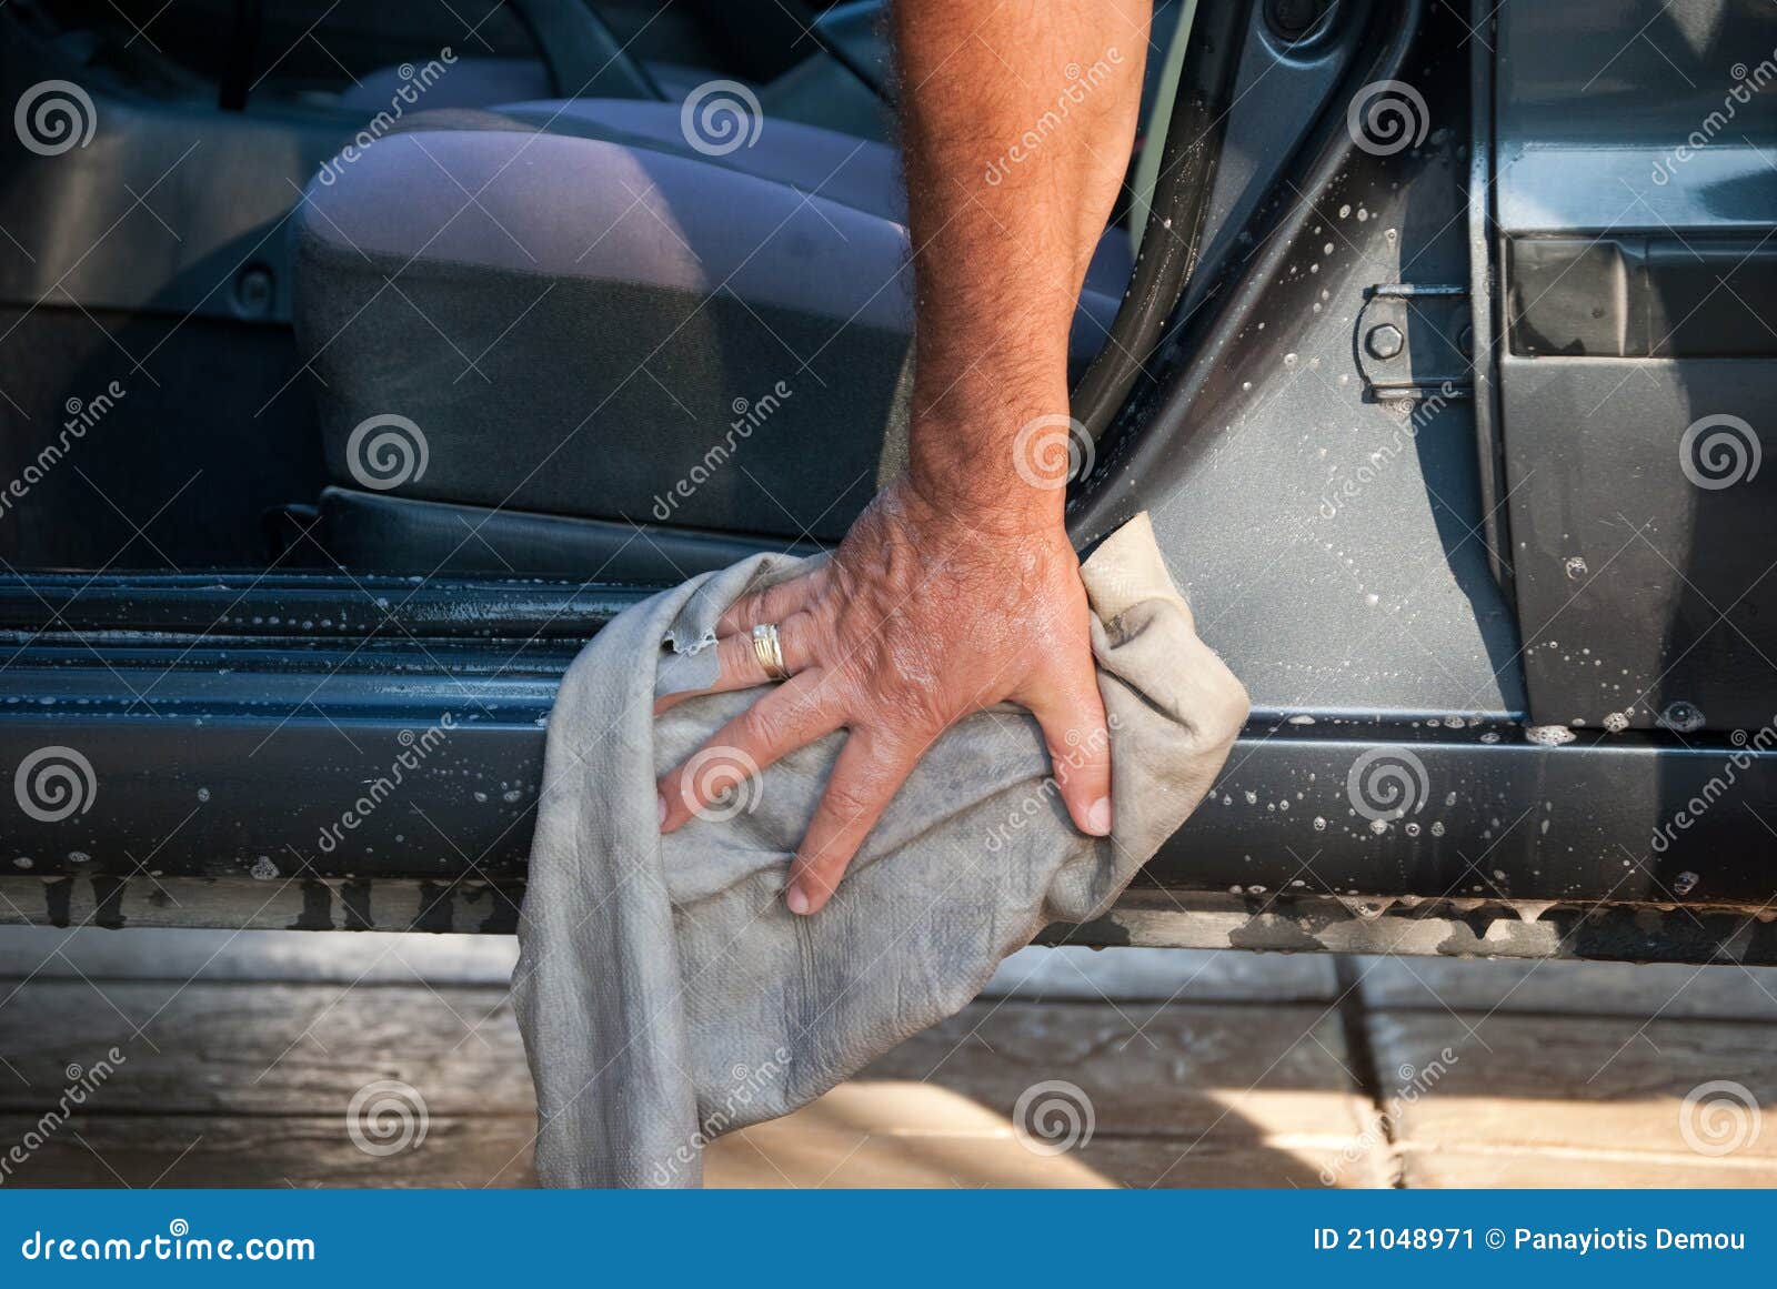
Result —
<instances>
[{"instance_id":1,"label":"man's wet hand with gold ring, fingers spread on cloth","mask_svg":"<svg viewBox=\"0 0 1777 1289\"><path fill-rule=\"evenodd\" d=\"M1043 508L1027 529L986 531L906 478L871 502L830 561L729 609L716 632L721 682L709 692L764 684L752 646L757 623L777 623L791 678L705 746L764 769L848 731L791 866L784 898L793 913L816 913L832 898L938 735L1000 701L1041 723L1075 826L1111 831L1111 751L1088 613L1059 508ZM709 804L684 771L659 781L668 833Z\"/></svg>"}]
</instances>

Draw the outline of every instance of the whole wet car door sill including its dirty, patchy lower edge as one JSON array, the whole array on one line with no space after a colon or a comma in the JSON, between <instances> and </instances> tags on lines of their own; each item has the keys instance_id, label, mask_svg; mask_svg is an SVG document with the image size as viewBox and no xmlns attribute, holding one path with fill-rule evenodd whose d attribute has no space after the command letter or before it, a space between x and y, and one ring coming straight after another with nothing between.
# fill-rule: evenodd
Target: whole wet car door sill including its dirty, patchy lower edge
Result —
<instances>
[{"instance_id":1,"label":"whole wet car door sill including its dirty, patchy lower edge","mask_svg":"<svg viewBox=\"0 0 1777 1289\"><path fill-rule=\"evenodd\" d=\"M560 676L652 589L343 573L0 582L0 765L14 788L0 920L235 927L261 916L258 900L252 925L512 930ZM1523 936L1486 927L1548 936L1578 918L1571 930L1601 936L1610 957L1701 952L1670 929L1733 914L1734 936L1765 945L1772 877L1741 859L1777 801L1766 733L1683 746L1526 731L1512 714L1258 710L1128 897L1150 913L1080 934L1198 943L1224 925L1255 948L1329 948L1358 943L1333 923L1443 918L1445 937L1416 929L1404 948L1518 952ZM53 794L57 765L73 804ZM1594 936L1624 909L1667 930ZM1558 939L1550 952L1571 952Z\"/></svg>"}]
</instances>

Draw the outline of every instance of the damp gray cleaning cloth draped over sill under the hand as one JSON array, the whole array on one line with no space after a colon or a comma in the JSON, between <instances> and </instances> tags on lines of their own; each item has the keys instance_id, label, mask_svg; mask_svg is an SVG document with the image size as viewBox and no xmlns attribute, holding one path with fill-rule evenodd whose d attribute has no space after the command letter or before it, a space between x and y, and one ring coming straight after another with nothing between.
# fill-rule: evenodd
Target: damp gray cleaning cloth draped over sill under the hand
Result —
<instances>
[{"instance_id":1,"label":"damp gray cleaning cloth draped over sill under the hand","mask_svg":"<svg viewBox=\"0 0 1777 1289\"><path fill-rule=\"evenodd\" d=\"M1043 925L1104 913L1246 719L1141 515L1082 568L1112 836L1073 829L1036 723L993 708L928 751L832 904L798 918L780 895L787 863L844 735L661 838L656 776L757 694L652 716L657 694L714 680L721 611L796 566L757 556L663 591L562 684L514 971L546 1184L698 1184L704 1142L789 1113L954 1014Z\"/></svg>"}]
</instances>

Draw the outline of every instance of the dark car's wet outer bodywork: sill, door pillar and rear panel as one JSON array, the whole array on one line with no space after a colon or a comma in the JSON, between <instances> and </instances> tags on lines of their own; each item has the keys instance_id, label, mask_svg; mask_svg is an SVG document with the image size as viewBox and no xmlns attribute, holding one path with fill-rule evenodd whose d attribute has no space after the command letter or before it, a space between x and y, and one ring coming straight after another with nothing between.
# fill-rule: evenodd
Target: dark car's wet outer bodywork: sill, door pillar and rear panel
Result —
<instances>
[{"instance_id":1,"label":"dark car's wet outer bodywork: sill, door pillar and rear panel","mask_svg":"<svg viewBox=\"0 0 1777 1289\"><path fill-rule=\"evenodd\" d=\"M1709 153L1685 112L1772 41L1740 0L1656 9L1240 11L1201 259L1070 524L1151 513L1253 719L1143 884L1052 937L1770 959L1765 508L1685 472L1718 423L1669 424L1757 421L1757 327L1708 282L1754 321L1768 298L1763 99L1738 169L1649 169L1651 213L1605 218L1583 176ZM1580 415L1589 391L1617 401ZM634 527L641 554L761 540ZM668 579L92 563L0 598L11 918L512 930L554 684Z\"/></svg>"}]
</instances>

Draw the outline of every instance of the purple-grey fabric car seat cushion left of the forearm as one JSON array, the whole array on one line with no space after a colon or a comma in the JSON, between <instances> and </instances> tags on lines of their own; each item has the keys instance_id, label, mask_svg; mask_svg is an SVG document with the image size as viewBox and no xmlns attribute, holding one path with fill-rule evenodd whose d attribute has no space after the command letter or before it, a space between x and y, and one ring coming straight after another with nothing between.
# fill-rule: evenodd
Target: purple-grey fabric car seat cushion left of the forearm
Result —
<instances>
[{"instance_id":1,"label":"purple-grey fabric car seat cushion left of the forearm","mask_svg":"<svg viewBox=\"0 0 1777 1289\"><path fill-rule=\"evenodd\" d=\"M709 158L675 107L631 101L435 124L410 117L334 162L297 213L297 339L331 476L842 536L906 417L912 272L892 151L768 121L759 146ZM1114 311L1116 297L1082 295L1077 360ZM418 426L423 469L382 472L380 435L361 431L371 417Z\"/></svg>"}]
</instances>

